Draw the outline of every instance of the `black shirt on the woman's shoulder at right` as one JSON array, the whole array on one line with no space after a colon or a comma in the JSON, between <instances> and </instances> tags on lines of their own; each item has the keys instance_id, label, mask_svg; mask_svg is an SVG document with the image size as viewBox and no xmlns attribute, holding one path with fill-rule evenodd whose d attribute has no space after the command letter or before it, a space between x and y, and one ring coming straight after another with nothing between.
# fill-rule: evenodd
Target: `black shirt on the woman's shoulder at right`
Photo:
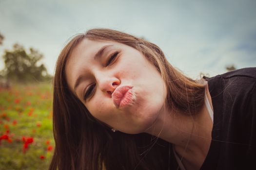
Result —
<instances>
[{"instance_id":1,"label":"black shirt on the woman's shoulder at right","mask_svg":"<svg viewBox=\"0 0 256 170\"><path fill-rule=\"evenodd\" d=\"M256 170L256 68L206 78L214 124L200 170Z\"/></svg>"}]
</instances>

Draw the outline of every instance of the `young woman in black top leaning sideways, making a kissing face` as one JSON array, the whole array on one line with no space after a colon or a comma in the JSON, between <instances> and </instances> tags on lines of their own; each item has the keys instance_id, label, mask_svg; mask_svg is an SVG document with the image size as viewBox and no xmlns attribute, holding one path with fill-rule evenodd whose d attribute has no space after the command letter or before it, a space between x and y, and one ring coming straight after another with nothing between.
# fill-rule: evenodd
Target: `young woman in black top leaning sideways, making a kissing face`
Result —
<instances>
[{"instance_id":1,"label":"young woman in black top leaning sideways, making a kissing face","mask_svg":"<svg viewBox=\"0 0 256 170\"><path fill-rule=\"evenodd\" d=\"M146 40L78 34L57 61L50 170L246 169L256 160L255 86L256 68L194 81Z\"/></svg>"}]
</instances>

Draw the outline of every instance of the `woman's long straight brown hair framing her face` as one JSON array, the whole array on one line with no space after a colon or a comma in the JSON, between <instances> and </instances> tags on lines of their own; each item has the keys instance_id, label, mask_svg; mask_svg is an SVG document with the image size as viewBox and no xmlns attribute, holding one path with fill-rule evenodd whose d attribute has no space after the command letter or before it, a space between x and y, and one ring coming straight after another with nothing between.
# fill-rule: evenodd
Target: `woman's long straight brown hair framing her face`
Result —
<instances>
[{"instance_id":1,"label":"woman's long straight brown hair framing her face","mask_svg":"<svg viewBox=\"0 0 256 170\"><path fill-rule=\"evenodd\" d=\"M53 129L56 148L50 170L165 170L168 142L142 133L111 132L94 119L68 88L65 65L84 39L116 41L142 52L158 69L166 86L166 104L186 115L203 106L204 85L173 68L158 46L144 39L110 29L92 29L74 36L59 54L54 76Z\"/></svg>"}]
</instances>

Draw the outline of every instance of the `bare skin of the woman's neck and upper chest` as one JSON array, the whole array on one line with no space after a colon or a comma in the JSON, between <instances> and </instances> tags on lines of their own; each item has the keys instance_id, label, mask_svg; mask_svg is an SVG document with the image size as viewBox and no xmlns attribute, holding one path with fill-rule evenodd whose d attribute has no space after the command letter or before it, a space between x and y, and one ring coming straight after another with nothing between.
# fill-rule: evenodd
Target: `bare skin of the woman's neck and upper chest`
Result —
<instances>
[{"instance_id":1,"label":"bare skin of the woman's neck and upper chest","mask_svg":"<svg viewBox=\"0 0 256 170\"><path fill-rule=\"evenodd\" d=\"M213 122L205 105L193 116L164 107L146 133L172 143L187 168L199 169L210 148L212 127Z\"/></svg>"}]
</instances>

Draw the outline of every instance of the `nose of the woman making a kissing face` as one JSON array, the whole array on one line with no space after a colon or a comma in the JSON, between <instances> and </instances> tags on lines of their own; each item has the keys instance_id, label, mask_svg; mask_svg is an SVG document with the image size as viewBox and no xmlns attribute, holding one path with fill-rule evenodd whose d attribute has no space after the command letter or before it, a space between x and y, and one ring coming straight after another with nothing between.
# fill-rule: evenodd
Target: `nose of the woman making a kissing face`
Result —
<instances>
[{"instance_id":1,"label":"nose of the woman making a kissing face","mask_svg":"<svg viewBox=\"0 0 256 170\"><path fill-rule=\"evenodd\" d=\"M114 76L102 75L98 76L96 80L98 82L99 89L110 96L115 91L117 86L120 85L120 80Z\"/></svg>"}]
</instances>

